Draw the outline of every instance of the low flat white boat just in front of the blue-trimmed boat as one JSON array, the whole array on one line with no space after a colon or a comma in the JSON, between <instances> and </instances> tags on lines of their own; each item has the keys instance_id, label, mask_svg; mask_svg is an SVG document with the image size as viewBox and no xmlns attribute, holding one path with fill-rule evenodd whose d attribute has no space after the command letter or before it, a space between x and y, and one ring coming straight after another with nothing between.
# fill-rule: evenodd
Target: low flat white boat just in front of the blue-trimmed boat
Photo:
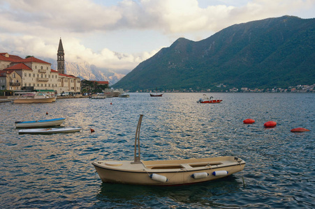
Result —
<instances>
[{"instance_id":1,"label":"low flat white boat just in front of the blue-trimmed boat","mask_svg":"<svg viewBox=\"0 0 315 209\"><path fill-rule=\"evenodd\" d=\"M80 127L55 127L55 128L36 128L36 129L24 129L19 130L19 134L58 134L58 133L70 133L80 132Z\"/></svg>"}]
</instances>

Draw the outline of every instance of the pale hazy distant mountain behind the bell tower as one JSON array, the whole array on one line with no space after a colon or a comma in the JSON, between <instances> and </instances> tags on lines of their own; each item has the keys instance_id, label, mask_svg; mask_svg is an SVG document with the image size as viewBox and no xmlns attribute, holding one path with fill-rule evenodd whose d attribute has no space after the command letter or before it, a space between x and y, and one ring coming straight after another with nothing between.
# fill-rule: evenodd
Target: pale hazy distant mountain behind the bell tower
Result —
<instances>
[{"instance_id":1,"label":"pale hazy distant mountain behind the bell tower","mask_svg":"<svg viewBox=\"0 0 315 209\"><path fill-rule=\"evenodd\" d=\"M52 63L52 69L57 70L57 60L50 58L39 58L47 63ZM94 81L108 81L110 85L115 84L125 75L112 70L97 68L95 65L90 65L87 62L74 63L65 62L66 74L80 77L81 79Z\"/></svg>"}]
</instances>

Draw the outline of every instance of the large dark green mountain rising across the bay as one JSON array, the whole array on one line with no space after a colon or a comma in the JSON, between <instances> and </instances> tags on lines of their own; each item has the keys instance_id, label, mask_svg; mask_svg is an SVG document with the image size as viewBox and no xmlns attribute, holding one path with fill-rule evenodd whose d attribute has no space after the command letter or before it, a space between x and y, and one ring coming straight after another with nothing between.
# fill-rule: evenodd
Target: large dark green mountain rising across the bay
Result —
<instances>
[{"instance_id":1,"label":"large dark green mountain rising across the bay","mask_svg":"<svg viewBox=\"0 0 315 209\"><path fill-rule=\"evenodd\" d=\"M114 84L137 90L288 87L315 82L315 19L235 24L194 42L179 38Z\"/></svg>"}]
</instances>

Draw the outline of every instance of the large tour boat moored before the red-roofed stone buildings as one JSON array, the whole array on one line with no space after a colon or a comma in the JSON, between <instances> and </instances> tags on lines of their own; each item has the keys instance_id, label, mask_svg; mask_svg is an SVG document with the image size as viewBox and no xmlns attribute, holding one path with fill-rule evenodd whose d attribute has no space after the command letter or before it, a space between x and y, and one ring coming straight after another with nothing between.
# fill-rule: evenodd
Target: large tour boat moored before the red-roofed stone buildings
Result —
<instances>
[{"instance_id":1,"label":"large tour boat moored before the red-roofed stone buildings","mask_svg":"<svg viewBox=\"0 0 315 209\"><path fill-rule=\"evenodd\" d=\"M56 98L44 93L23 93L13 100L13 103L52 103Z\"/></svg>"}]
</instances>

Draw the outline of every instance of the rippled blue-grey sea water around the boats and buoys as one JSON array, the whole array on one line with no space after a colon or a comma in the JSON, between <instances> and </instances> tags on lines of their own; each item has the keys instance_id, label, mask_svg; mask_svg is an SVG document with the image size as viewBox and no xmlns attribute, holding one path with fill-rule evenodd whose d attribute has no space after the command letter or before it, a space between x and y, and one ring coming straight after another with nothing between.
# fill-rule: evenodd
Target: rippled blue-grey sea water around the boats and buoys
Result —
<instances>
[{"instance_id":1,"label":"rippled blue-grey sea water around the boats and buoys","mask_svg":"<svg viewBox=\"0 0 315 209\"><path fill-rule=\"evenodd\" d=\"M1 208L315 208L315 94L131 93L130 98L1 103ZM48 113L46 115L46 112ZM148 187L102 183L91 162L233 155L243 171L208 183ZM69 134L18 134L15 121L66 117ZM242 121L253 118L256 123ZM263 124L276 121L266 129ZM310 132L293 133L305 127ZM95 130L90 132L89 128Z\"/></svg>"}]
</instances>

